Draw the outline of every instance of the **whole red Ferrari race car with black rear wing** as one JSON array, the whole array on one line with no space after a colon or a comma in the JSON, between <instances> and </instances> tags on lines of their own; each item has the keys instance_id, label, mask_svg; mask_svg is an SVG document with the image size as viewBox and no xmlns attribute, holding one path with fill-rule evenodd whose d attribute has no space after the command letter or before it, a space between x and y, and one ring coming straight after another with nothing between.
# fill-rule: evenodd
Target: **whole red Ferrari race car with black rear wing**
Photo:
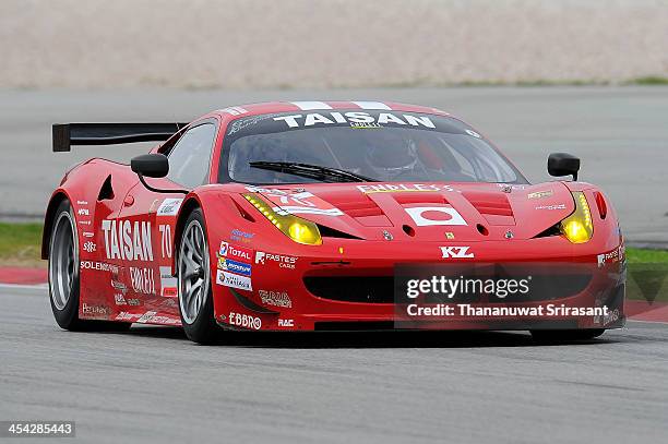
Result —
<instances>
[{"instance_id":1,"label":"whole red Ferrari race car with black rear wing","mask_svg":"<svg viewBox=\"0 0 668 444\"><path fill-rule=\"evenodd\" d=\"M478 131L378 101L244 105L190 123L53 125L53 151L160 142L69 170L43 257L67 329L528 329L624 323L615 211L550 155L530 184ZM225 333L222 333L223 337Z\"/></svg>"}]
</instances>

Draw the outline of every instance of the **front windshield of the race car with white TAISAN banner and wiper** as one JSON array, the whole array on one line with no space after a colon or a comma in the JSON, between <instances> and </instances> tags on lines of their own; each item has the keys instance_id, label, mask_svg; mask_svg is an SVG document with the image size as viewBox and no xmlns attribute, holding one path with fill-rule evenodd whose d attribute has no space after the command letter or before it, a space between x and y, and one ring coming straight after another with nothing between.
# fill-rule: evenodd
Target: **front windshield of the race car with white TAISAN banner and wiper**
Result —
<instances>
[{"instance_id":1,"label":"front windshield of the race car with white TAISAN banner and wiper","mask_svg":"<svg viewBox=\"0 0 668 444\"><path fill-rule=\"evenodd\" d=\"M240 118L228 125L219 170L220 182L252 184L363 179L526 183L465 123L402 111L323 110Z\"/></svg>"}]
</instances>

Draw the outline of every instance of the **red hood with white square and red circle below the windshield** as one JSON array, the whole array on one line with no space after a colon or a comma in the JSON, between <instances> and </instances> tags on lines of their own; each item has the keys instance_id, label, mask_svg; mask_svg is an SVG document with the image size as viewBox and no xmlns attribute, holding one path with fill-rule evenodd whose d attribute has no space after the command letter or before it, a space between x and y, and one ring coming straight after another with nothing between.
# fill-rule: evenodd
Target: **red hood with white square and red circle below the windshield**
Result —
<instances>
[{"instance_id":1,"label":"red hood with white square and red circle below the windshield","mask_svg":"<svg viewBox=\"0 0 668 444\"><path fill-rule=\"evenodd\" d=\"M275 211L360 239L415 241L530 239L575 209L562 182L314 183L257 189Z\"/></svg>"}]
</instances>

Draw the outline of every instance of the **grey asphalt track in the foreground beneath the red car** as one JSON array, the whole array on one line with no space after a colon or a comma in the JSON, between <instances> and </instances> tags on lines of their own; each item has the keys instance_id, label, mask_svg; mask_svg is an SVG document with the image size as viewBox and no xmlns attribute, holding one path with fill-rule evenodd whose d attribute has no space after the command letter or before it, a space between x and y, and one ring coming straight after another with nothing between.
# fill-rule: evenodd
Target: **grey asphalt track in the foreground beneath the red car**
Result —
<instances>
[{"instance_id":1,"label":"grey asphalt track in the foreground beneath the red car","mask_svg":"<svg viewBox=\"0 0 668 444\"><path fill-rule=\"evenodd\" d=\"M524 333L71 333L0 286L0 419L76 442L666 442L668 326L536 346ZM63 440L64 442L69 440Z\"/></svg>"}]
</instances>

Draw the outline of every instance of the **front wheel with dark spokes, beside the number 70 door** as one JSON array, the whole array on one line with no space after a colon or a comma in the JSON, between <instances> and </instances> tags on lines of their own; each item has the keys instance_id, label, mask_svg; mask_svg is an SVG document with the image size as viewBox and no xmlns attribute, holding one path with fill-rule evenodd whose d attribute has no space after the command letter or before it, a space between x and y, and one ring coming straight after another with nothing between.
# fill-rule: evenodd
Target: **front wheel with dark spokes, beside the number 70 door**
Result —
<instances>
[{"instance_id":1,"label":"front wheel with dark spokes, beside the number 70 door","mask_svg":"<svg viewBox=\"0 0 668 444\"><path fill-rule=\"evenodd\" d=\"M189 238L193 230L200 230L201 244ZM200 254L200 260L196 257L196 252ZM220 333L220 328L214 319L210 262L206 226L202 209L196 208L190 213L183 225L177 253L177 274L181 324L186 336L199 344L212 344L216 341ZM193 274L194 271L191 269L194 263L200 266L199 274ZM200 279L202 279L199 287L200 292L191 293L191 289L196 286ZM199 302L198 297L200 298Z\"/></svg>"}]
</instances>

